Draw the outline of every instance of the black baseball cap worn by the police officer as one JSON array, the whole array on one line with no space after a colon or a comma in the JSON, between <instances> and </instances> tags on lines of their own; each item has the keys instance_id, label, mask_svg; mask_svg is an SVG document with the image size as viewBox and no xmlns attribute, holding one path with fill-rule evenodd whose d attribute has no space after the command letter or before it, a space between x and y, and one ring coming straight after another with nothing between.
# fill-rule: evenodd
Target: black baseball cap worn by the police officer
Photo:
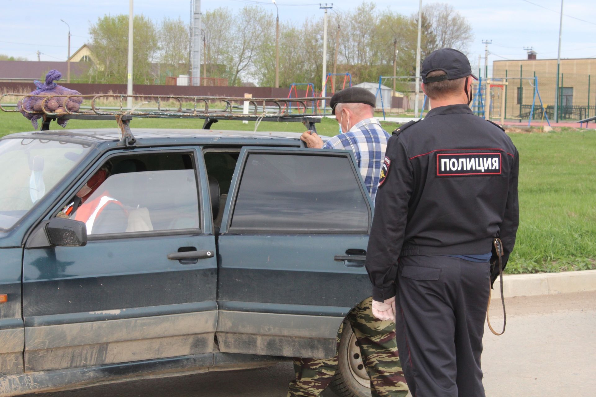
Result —
<instances>
[{"instance_id":1,"label":"black baseball cap worn by the police officer","mask_svg":"<svg viewBox=\"0 0 596 397\"><path fill-rule=\"evenodd\" d=\"M426 75L435 70L442 70L446 74L442 76L433 76L427 79ZM443 80L455 80L462 77L472 76L478 80L478 77L472 74L472 68L468 57L461 51L453 48L437 49L424 58L422 62L422 82L433 83L441 82Z\"/></svg>"}]
</instances>

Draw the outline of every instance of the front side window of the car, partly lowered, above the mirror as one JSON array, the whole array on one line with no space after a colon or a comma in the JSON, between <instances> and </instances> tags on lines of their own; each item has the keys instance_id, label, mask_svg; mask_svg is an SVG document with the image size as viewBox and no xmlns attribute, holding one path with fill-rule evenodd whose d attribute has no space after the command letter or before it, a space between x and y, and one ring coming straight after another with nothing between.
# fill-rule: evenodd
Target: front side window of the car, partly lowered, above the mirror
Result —
<instances>
[{"instance_id":1,"label":"front side window of the car, partly lowered, above the mirror","mask_svg":"<svg viewBox=\"0 0 596 397\"><path fill-rule=\"evenodd\" d=\"M85 222L88 235L197 229L197 179L188 160L190 154L111 158L57 216Z\"/></svg>"}]
</instances>

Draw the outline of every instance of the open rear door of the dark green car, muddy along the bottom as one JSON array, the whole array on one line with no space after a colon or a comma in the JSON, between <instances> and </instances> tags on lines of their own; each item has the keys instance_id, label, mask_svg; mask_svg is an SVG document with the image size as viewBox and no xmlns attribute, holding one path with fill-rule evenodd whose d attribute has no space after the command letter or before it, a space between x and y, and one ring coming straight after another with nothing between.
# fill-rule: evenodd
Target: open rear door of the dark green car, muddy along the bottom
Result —
<instances>
[{"instance_id":1,"label":"open rear door of the dark green car, muddy along the bottom","mask_svg":"<svg viewBox=\"0 0 596 397\"><path fill-rule=\"evenodd\" d=\"M218 237L221 351L333 357L370 296L370 225L351 151L242 149Z\"/></svg>"}]
</instances>

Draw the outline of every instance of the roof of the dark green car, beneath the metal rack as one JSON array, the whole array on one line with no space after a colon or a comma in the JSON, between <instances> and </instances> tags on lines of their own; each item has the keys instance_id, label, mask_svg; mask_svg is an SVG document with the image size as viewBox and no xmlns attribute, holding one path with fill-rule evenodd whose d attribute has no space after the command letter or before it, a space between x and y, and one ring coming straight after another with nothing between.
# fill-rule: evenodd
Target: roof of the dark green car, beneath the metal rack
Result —
<instances>
[{"instance_id":1,"label":"roof of the dark green car, beneath the metal rack","mask_svg":"<svg viewBox=\"0 0 596 397\"><path fill-rule=\"evenodd\" d=\"M206 144L263 144L300 146L300 133L295 132L252 132L237 130L201 130L201 129L131 129L137 145L190 145ZM76 129L22 132L7 137L49 137L53 139L91 140L95 143L119 142L120 129ZM327 137L322 137L327 140ZM175 142L174 142L175 141Z\"/></svg>"}]
</instances>

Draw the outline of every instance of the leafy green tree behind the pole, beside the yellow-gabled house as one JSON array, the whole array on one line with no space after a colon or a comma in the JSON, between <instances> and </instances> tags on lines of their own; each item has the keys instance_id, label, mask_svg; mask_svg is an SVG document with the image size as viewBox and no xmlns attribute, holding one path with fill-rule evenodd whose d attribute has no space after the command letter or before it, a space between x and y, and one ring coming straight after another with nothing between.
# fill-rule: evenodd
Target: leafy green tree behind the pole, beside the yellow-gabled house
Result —
<instances>
[{"instance_id":1,"label":"leafy green tree behind the pole, beside the yellow-gabled house","mask_svg":"<svg viewBox=\"0 0 596 397\"><path fill-rule=\"evenodd\" d=\"M134 16L133 73L135 84L156 79L151 62L159 51L155 24L144 15ZM94 65L89 82L126 83L128 80L128 15L104 15L89 28Z\"/></svg>"}]
</instances>

